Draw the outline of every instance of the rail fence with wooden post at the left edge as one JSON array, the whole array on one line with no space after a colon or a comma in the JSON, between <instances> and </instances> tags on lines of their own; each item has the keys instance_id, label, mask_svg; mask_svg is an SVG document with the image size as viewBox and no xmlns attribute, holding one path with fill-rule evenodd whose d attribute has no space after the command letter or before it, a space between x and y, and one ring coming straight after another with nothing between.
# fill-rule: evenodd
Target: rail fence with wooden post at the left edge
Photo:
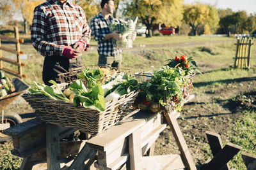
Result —
<instances>
[{"instance_id":1,"label":"rail fence with wooden post at the left edge","mask_svg":"<svg viewBox=\"0 0 256 170\"><path fill-rule=\"evenodd\" d=\"M24 43L24 39L19 38L19 29L18 27L14 27L14 33L15 37L12 38L10 36L3 36L0 35L0 70L3 70L6 73L12 74L13 76L17 76L20 79L26 78L26 75L22 73L22 66L25 66L24 63L20 60L20 54L23 54L24 52L20 51L20 43ZM8 46L1 45L1 40L4 41L11 41L15 43L16 48L10 48ZM17 60L8 59L6 57L3 57L2 50L10 53L15 53L17 55ZM3 63L8 62L10 64L13 64L14 66L17 66L17 71L13 71L12 69L8 69L4 67Z\"/></svg>"}]
</instances>

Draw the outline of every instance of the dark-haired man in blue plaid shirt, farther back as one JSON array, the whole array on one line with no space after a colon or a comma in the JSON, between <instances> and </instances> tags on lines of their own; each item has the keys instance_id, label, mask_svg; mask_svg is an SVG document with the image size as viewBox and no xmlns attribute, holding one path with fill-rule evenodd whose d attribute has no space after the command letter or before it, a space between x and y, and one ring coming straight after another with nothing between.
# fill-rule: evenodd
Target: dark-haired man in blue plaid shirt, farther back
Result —
<instances>
[{"instance_id":1,"label":"dark-haired man in blue plaid shirt, farther back","mask_svg":"<svg viewBox=\"0 0 256 170\"><path fill-rule=\"evenodd\" d=\"M122 35L118 34L118 31L110 32L109 30L109 24L115 19L111 17L115 10L114 1L102 0L100 6L101 12L92 19L90 25L94 39L98 42L98 65L121 67L122 50L113 45L112 38L120 41Z\"/></svg>"}]
</instances>

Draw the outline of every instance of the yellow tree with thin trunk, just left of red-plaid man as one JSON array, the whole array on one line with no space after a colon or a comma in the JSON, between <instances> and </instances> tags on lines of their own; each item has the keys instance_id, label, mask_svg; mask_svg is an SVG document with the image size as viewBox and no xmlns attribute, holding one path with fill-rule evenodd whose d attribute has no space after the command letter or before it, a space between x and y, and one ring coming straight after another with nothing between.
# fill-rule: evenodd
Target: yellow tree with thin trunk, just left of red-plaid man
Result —
<instances>
[{"instance_id":1,"label":"yellow tree with thin trunk, just left of red-plaid man","mask_svg":"<svg viewBox=\"0 0 256 170\"><path fill-rule=\"evenodd\" d=\"M36 6L39 4L44 3L43 0L36 0L36 1L30 1L30 0L12 0L15 4L15 7L20 11L23 22L24 22L24 33L29 34L29 25L32 24L33 21L33 11Z\"/></svg>"}]
</instances>

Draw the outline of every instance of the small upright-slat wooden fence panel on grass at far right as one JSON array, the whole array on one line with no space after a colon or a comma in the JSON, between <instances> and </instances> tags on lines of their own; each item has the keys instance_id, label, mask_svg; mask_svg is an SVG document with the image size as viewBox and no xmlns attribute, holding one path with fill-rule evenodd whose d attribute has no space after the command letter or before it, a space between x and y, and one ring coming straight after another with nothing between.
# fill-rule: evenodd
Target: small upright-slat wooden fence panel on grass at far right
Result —
<instances>
[{"instance_id":1,"label":"small upright-slat wooden fence panel on grass at far right","mask_svg":"<svg viewBox=\"0 0 256 170\"><path fill-rule=\"evenodd\" d=\"M235 68L248 68L250 69L251 48L253 39L250 37L237 38Z\"/></svg>"}]
</instances>

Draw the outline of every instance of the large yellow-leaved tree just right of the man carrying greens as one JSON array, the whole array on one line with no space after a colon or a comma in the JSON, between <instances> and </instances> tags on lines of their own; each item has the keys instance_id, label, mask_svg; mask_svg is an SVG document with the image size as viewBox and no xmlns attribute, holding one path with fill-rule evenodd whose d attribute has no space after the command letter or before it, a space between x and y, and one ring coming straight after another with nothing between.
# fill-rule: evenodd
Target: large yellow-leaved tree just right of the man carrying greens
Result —
<instances>
[{"instance_id":1,"label":"large yellow-leaved tree just right of the man carrying greens","mask_svg":"<svg viewBox=\"0 0 256 170\"><path fill-rule=\"evenodd\" d=\"M179 0L132 0L126 3L124 14L139 17L146 25L147 37L152 36L153 24L163 22L165 25L179 25L182 20L182 1Z\"/></svg>"}]
</instances>

